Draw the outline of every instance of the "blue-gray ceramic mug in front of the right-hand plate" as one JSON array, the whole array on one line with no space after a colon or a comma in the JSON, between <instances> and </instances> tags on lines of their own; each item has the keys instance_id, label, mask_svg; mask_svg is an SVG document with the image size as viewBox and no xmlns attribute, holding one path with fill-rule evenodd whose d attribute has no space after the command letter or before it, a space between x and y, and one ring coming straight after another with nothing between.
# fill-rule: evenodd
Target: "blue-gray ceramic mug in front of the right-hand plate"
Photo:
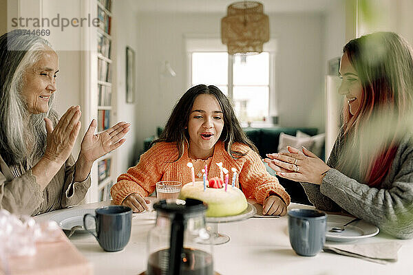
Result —
<instances>
[{"instance_id":1,"label":"blue-gray ceramic mug in front of the right-hand plate","mask_svg":"<svg viewBox=\"0 0 413 275\"><path fill-rule=\"evenodd\" d=\"M327 215L310 209L288 211L288 234L293 250L301 256L315 256L326 242Z\"/></svg>"}]
</instances>

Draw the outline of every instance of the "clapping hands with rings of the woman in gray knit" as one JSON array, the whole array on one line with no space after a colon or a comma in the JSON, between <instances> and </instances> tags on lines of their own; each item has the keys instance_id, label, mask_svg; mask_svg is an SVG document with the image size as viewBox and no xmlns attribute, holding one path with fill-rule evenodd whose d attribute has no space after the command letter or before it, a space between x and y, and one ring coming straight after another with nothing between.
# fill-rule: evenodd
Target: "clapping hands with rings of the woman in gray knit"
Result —
<instances>
[{"instance_id":1,"label":"clapping hands with rings of the woman in gray knit","mask_svg":"<svg viewBox=\"0 0 413 275\"><path fill-rule=\"evenodd\" d=\"M302 152L291 146L287 146L287 149L289 153L268 154L264 162L273 168L279 177L321 184L330 167L304 147Z\"/></svg>"}]
</instances>

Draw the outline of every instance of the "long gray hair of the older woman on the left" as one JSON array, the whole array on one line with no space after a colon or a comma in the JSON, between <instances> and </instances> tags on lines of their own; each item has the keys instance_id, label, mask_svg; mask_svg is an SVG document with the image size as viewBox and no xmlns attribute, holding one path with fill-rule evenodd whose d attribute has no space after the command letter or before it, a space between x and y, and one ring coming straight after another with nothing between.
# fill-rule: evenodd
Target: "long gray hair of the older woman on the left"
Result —
<instances>
[{"instance_id":1,"label":"long gray hair of the older woman on the left","mask_svg":"<svg viewBox=\"0 0 413 275\"><path fill-rule=\"evenodd\" d=\"M56 125L54 93L47 113L31 114L22 98L23 76L50 43L36 35L14 30L0 36L0 154L8 165L33 166L45 152L44 118ZM30 147L28 148L28 144Z\"/></svg>"}]
</instances>

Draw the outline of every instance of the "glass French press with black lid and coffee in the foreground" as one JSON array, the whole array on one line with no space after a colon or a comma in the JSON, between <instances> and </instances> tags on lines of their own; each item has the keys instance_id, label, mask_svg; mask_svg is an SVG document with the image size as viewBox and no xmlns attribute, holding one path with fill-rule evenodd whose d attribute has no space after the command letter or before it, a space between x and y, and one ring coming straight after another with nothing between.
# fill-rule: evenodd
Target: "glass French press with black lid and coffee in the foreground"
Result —
<instances>
[{"instance_id":1,"label":"glass French press with black lid and coffee in the foreground","mask_svg":"<svg viewBox=\"0 0 413 275\"><path fill-rule=\"evenodd\" d=\"M213 275L207 206L197 199L167 199L153 208L156 224L149 231L147 275Z\"/></svg>"}]
</instances>

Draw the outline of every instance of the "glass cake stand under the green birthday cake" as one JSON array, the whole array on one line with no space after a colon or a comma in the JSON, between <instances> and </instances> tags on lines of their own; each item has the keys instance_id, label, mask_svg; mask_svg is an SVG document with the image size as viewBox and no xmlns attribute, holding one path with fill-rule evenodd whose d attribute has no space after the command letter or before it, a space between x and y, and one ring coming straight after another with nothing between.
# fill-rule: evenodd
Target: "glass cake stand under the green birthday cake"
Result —
<instances>
[{"instance_id":1,"label":"glass cake stand under the green birthday cake","mask_svg":"<svg viewBox=\"0 0 413 275\"><path fill-rule=\"evenodd\" d=\"M237 214L235 216L227 216L227 217L207 217L207 229L209 230L210 234L210 239L209 239L209 244L211 245L222 245L223 243L228 243L229 242L229 236L226 234L222 234L218 232L218 224L219 223L230 223L233 221L242 221L244 219L248 219L253 217L257 213L257 210L255 210L255 207L249 203L248 206L246 207L246 210L241 212L240 214Z\"/></svg>"}]
</instances>

